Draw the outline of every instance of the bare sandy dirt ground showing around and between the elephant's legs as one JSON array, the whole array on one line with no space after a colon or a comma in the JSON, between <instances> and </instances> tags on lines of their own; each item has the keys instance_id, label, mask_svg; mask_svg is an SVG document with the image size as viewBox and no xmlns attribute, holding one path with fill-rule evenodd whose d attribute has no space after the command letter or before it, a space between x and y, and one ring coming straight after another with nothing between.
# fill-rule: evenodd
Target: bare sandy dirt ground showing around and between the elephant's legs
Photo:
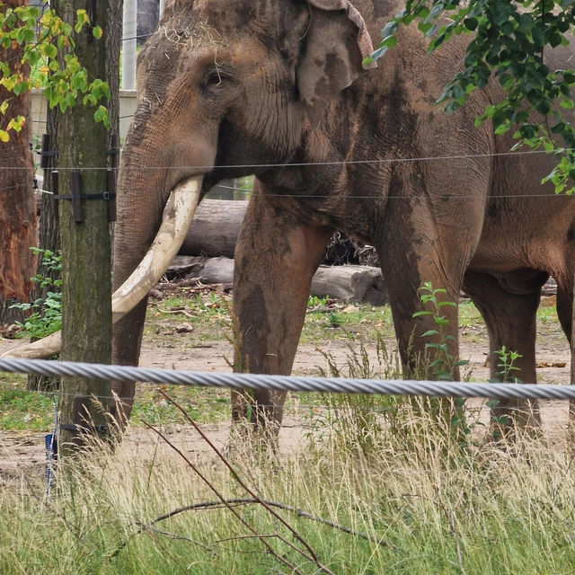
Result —
<instances>
[{"instance_id":1,"label":"bare sandy dirt ground showing around and between the elephant's legs","mask_svg":"<svg viewBox=\"0 0 575 575\"><path fill-rule=\"evenodd\" d=\"M473 369L473 381L485 381L489 369L485 366L487 339L484 328L477 326L462 327L461 357L470 361ZM0 354L17 345L18 341L0 339ZM352 342L353 343L353 342ZM390 346L394 342L390 341ZM324 352L329 352L341 365L349 353L349 341L326 341L321 345ZM367 343L370 355L375 356L373 344ZM190 347L185 334L171 337L169 341L154 336L146 336L142 349L141 365L146 367L166 367L192 369L199 371L230 371L226 358L233 356L232 345L227 341L208 341ZM569 346L559 325L542 323L538 329L537 361L540 383L568 384L570 380ZM317 345L301 344L294 364L295 375L317 374L318 367L325 367L325 358ZM481 402L474 401L471 406L476 409ZM551 444L562 445L567 426L566 402L542 402L541 414L545 438ZM302 410L303 413L305 410ZM308 413L309 411L305 411ZM487 420L487 410L482 410L482 419ZM225 447L229 433L229 423L222 422L202 426L208 437L217 447ZM303 445L305 431L309 423L306 417L289 415L280 433L282 453L296 452ZM48 432L48 430L47 430ZM185 426L171 425L164 429L170 437L177 437L180 445L185 445L190 454L201 456L208 451L208 446L195 434L193 429ZM39 484L44 473L44 434L31 432L12 432L0 429L0 488L18 488L27 482ZM134 450L152 450L157 447L159 438L152 432L141 428L129 429L126 441Z\"/></svg>"}]
</instances>

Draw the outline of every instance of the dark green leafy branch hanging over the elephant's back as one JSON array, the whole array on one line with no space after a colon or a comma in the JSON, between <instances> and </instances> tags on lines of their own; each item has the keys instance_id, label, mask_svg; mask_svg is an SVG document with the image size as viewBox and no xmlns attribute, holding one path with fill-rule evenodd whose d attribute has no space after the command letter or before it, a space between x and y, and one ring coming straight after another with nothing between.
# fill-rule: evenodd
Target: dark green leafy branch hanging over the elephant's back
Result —
<instances>
[{"instance_id":1,"label":"dark green leafy branch hanging over the elephant's back","mask_svg":"<svg viewBox=\"0 0 575 575\"><path fill-rule=\"evenodd\" d=\"M553 181L556 193L573 193L575 181L575 127L564 118L571 110L575 73L550 69L544 50L567 46L575 26L572 0L407 0L381 31L382 40L368 62L383 57L397 44L401 25L417 22L429 38L429 52L454 34L473 34L464 56L464 69L449 82L438 98L447 114L467 101L469 94L484 88L495 76L505 94L486 107L476 119L491 119L496 134L515 129L514 146L544 147L561 155L559 164L543 181ZM560 144L558 144L558 142Z\"/></svg>"}]
</instances>

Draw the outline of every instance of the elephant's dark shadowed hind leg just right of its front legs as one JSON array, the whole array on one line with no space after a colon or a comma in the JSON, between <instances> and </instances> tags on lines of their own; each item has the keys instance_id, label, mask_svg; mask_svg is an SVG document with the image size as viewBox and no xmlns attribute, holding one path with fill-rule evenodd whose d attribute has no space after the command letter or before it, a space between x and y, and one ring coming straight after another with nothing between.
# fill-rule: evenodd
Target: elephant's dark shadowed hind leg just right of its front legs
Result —
<instances>
[{"instance_id":1,"label":"elephant's dark shadowed hind leg just right of its front legs","mask_svg":"<svg viewBox=\"0 0 575 575\"><path fill-rule=\"evenodd\" d=\"M497 352L505 347L517 351L513 367L507 379L517 377L523 383L535 384L535 315L541 297L541 286L546 274L532 271L528 278L496 279L491 274L467 270L464 291L471 296L481 312L489 333L489 362L491 377L505 376ZM506 286L506 282L509 285ZM500 400L497 412L515 421L517 427L538 427L539 412L536 403L527 400Z\"/></svg>"}]
</instances>

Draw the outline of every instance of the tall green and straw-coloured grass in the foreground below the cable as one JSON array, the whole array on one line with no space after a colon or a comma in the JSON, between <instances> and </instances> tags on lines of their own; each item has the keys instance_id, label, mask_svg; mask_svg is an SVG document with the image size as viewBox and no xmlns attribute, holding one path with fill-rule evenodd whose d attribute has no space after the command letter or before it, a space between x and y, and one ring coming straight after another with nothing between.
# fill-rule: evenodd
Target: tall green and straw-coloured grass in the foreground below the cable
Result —
<instances>
[{"instance_id":1,"label":"tall green and straw-coloured grass in the foreground below the cable","mask_svg":"<svg viewBox=\"0 0 575 575\"><path fill-rule=\"evenodd\" d=\"M404 410L403 424L420 429L422 417ZM260 498L349 528L276 509L333 573L573 572L569 454L533 438L462 451L445 437L382 426L366 457L326 433L296 458L243 456L234 467ZM247 497L216 457L194 456L181 435L170 441L180 454L162 438L146 450L127 441L114 453L90 447L60 470L50 497L26 486L0 494L0 573L323 572L261 504L234 505L245 523L221 505L154 523L174 509L217 502L214 489L229 500Z\"/></svg>"}]
</instances>

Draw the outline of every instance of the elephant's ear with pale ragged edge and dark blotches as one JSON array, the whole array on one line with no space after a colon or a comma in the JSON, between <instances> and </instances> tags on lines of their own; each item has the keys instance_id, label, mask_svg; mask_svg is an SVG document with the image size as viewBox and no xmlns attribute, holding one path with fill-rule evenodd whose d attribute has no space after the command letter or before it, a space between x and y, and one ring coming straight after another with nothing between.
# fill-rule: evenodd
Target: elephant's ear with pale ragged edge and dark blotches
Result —
<instances>
[{"instance_id":1,"label":"elephant's ear with pale ragged edge and dark blotches","mask_svg":"<svg viewBox=\"0 0 575 575\"><path fill-rule=\"evenodd\" d=\"M305 111L316 124L327 104L364 70L373 51L366 22L349 0L308 0L311 11L306 47L297 69Z\"/></svg>"}]
</instances>

